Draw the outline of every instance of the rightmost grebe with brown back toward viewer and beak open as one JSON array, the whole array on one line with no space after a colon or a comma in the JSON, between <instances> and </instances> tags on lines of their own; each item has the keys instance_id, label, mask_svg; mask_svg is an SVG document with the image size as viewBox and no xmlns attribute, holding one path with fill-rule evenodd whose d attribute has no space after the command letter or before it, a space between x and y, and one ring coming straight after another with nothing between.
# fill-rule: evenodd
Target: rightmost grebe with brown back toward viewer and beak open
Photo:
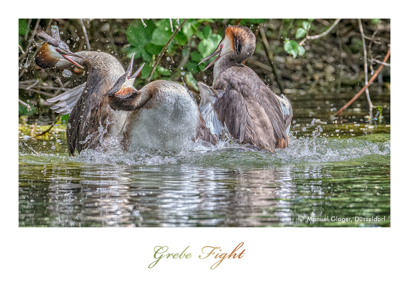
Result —
<instances>
[{"instance_id":1,"label":"rightmost grebe with brown back toward viewer and beak open","mask_svg":"<svg viewBox=\"0 0 409 283\"><path fill-rule=\"evenodd\" d=\"M206 69L214 64L213 89L224 94L214 101L213 111L233 140L269 150L285 148L292 108L285 96L276 96L242 64L255 47L256 37L248 27L225 26L217 49L200 62L216 56Z\"/></svg>"}]
</instances>

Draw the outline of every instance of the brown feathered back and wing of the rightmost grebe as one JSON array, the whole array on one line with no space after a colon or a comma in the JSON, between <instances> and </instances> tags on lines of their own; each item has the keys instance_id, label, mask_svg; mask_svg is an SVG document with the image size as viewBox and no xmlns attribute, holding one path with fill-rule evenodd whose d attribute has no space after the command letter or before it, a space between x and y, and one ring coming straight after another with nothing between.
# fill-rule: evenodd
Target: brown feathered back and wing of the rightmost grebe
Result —
<instances>
[{"instance_id":1,"label":"brown feathered back and wing of the rightmost grebe","mask_svg":"<svg viewBox=\"0 0 409 283\"><path fill-rule=\"evenodd\" d=\"M230 67L213 88L225 89L214 108L231 136L257 146L287 147L280 102L252 69Z\"/></svg>"}]
</instances>

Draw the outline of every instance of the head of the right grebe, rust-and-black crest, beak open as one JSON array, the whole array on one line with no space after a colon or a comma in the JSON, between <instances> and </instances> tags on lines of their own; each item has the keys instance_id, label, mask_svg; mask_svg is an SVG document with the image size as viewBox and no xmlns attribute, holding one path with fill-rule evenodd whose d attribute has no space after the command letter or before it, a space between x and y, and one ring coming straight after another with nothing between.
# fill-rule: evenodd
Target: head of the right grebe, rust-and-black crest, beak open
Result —
<instances>
[{"instance_id":1,"label":"head of the right grebe, rust-and-black crest, beak open","mask_svg":"<svg viewBox=\"0 0 409 283\"><path fill-rule=\"evenodd\" d=\"M231 60L241 63L253 55L255 48L256 37L248 27L240 25L225 26L225 33L217 49L200 61L199 64L215 55L217 55L217 57L205 68L205 70L225 55L229 56Z\"/></svg>"}]
</instances>

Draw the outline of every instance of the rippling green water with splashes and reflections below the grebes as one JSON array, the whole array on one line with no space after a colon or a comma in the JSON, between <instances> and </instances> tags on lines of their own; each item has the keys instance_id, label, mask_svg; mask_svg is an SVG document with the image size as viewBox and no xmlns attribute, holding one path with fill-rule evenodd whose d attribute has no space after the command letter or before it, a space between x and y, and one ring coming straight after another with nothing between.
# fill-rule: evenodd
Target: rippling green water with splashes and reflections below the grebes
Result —
<instances>
[{"instance_id":1,"label":"rippling green water with splashes and reflections below the grebes","mask_svg":"<svg viewBox=\"0 0 409 283\"><path fill-rule=\"evenodd\" d=\"M389 226L389 125L309 125L273 153L190 142L69 157L63 134L20 140L19 226Z\"/></svg>"}]
</instances>

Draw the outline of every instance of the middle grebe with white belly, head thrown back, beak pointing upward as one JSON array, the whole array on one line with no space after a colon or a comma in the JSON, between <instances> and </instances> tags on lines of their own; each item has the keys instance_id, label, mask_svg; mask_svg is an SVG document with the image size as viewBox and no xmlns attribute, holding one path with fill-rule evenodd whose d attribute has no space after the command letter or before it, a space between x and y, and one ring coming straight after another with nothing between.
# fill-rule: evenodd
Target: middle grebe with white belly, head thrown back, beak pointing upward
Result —
<instances>
[{"instance_id":1,"label":"middle grebe with white belly, head thrown back, beak pointing upward","mask_svg":"<svg viewBox=\"0 0 409 283\"><path fill-rule=\"evenodd\" d=\"M104 96L112 109L130 111L123 138L127 151L180 152L185 138L217 142L217 137L206 127L198 105L179 83L156 80L136 90L133 82L141 69L130 76L128 68Z\"/></svg>"}]
</instances>

